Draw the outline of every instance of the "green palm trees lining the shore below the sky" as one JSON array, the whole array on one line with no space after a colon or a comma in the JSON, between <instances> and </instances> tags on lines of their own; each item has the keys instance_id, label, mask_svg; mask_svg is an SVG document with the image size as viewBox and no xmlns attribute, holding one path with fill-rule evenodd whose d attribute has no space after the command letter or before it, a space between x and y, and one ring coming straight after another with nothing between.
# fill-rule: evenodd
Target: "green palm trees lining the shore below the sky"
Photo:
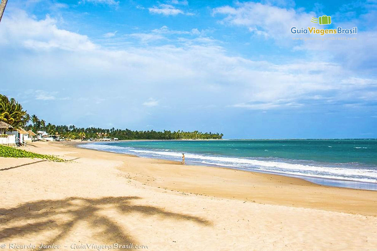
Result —
<instances>
[{"instance_id":1,"label":"green palm trees lining the shore below the sky","mask_svg":"<svg viewBox=\"0 0 377 251\"><path fill-rule=\"evenodd\" d=\"M0 94L0 120L14 128L22 127L26 131L46 131L49 135L60 135L66 139L118 138L118 140L178 140L178 139L221 139L223 134L212 132L185 131L132 131L130 129L77 128L74 125L53 125L30 116L15 99ZM31 123L30 123L31 122Z\"/></svg>"}]
</instances>

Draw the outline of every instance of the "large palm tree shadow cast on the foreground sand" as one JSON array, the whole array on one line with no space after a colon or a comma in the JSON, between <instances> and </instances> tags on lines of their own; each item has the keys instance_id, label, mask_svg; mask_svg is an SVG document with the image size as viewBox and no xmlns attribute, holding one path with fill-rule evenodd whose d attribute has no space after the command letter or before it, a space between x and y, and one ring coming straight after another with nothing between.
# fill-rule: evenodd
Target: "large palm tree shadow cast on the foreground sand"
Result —
<instances>
[{"instance_id":1,"label":"large palm tree shadow cast on the foreground sand","mask_svg":"<svg viewBox=\"0 0 377 251\"><path fill-rule=\"evenodd\" d=\"M161 218L212 225L210 221L200 217L173 213L148 205L132 204L132 201L136 199L141 198L136 196L98 199L70 197L60 200L27 202L14 208L0 208L0 242L15 238L26 241L30 234L43 235L45 231L53 231L54 236L43 240L43 243L46 245L56 244L59 240L72 234L77 224L84 222L90 230L95 231L92 237L97 241L102 241L103 244L138 244L137 240L133 239L129 233L125 233L121 224L111 216L104 214L104 210L107 209L116 210L120 216L136 212L145 216L157 215ZM36 240L37 243L41 243L40 241ZM37 243L35 244L38 245Z\"/></svg>"}]
</instances>

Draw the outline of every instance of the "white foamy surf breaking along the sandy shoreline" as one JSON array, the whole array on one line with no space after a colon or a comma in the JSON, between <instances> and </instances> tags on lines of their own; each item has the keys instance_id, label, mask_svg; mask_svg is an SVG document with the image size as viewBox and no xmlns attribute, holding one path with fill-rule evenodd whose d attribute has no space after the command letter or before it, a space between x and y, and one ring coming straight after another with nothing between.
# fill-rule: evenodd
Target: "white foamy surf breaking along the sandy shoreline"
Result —
<instances>
[{"instance_id":1,"label":"white foamy surf breaking along the sandy shoreline","mask_svg":"<svg viewBox=\"0 0 377 251\"><path fill-rule=\"evenodd\" d=\"M136 149L132 147L121 147L106 144L84 144L84 148L97 150L133 153L145 157L157 157L168 159L180 159L181 152L166 151L166 149ZM253 158L222 157L216 155L185 154L186 161L195 161L203 164L218 166L238 167L249 170L261 170L267 172L285 173L290 175L313 176L319 178L331 178L340 180L353 180L362 182L377 183L377 170L345 168L335 166L314 166L306 164L286 163L280 161L256 160Z\"/></svg>"}]
</instances>

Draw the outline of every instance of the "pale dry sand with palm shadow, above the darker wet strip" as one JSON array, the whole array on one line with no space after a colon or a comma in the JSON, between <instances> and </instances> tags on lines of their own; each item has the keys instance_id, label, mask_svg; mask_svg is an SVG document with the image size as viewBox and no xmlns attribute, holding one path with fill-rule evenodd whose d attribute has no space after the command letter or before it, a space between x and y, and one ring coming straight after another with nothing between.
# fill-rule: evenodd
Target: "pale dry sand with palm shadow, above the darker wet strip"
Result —
<instances>
[{"instance_id":1,"label":"pale dry sand with palm shadow, above the darker wet strip","mask_svg":"<svg viewBox=\"0 0 377 251\"><path fill-rule=\"evenodd\" d=\"M59 250L73 250L75 243L133 243L147 250L377 248L375 216L170 191L121 170L132 162L97 156L107 153L34 145L36 152L80 158L69 163L0 158L0 169L19 166L0 171L3 250L9 243L32 243L35 250L40 243L61 245Z\"/></svg>"}]
</instances>

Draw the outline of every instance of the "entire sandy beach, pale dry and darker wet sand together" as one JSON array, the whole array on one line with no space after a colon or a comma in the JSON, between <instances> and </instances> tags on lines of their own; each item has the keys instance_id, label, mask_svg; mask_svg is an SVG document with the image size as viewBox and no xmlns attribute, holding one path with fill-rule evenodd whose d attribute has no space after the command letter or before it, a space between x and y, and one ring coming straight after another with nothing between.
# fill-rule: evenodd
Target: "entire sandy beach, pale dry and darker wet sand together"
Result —
<instances>
[{"instance_id":1,"label":"entire sandy beach, pale dry and darker wet sand together","mask_svg":"<svg viewBox=\"0 0 377 251\"><path fill-rule=\"evenodd\" d=\"M33 142L26 150L70 161L0 158L3 250L97 250L113 243L147 250L377 246L376 191L186 166L74 143Z\"/></svg>"}]
</instances>

